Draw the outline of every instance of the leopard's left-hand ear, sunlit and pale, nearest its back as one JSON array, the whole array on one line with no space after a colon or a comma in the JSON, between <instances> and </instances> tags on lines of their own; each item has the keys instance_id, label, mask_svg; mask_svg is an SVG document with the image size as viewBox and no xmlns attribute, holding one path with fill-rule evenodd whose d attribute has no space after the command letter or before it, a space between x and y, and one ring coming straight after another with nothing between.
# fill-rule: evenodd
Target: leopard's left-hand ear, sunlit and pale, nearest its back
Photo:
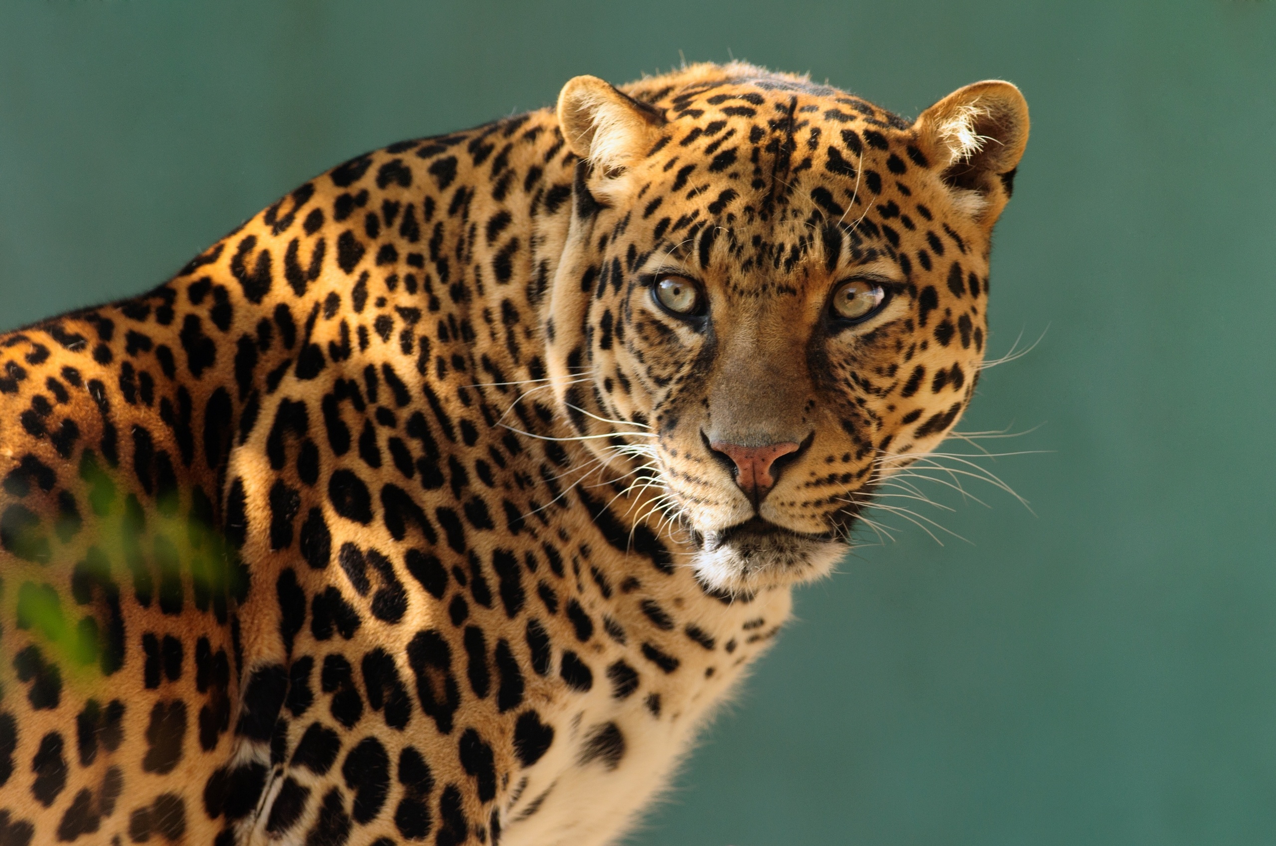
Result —
<instances>
[{"instance_id":1,"label":"leopard's left-hand ear, sunlit and pale, nearest its back","mask_svg":"<svg viewBox=\"0 0 1276 846\"><path fill-rule=\"evenodd\" d=\"M660 138L665 116L597 77L569 79L559 93L559 126L573 152L601 168L621 171Z\"/></svg>"}]
</instances>

